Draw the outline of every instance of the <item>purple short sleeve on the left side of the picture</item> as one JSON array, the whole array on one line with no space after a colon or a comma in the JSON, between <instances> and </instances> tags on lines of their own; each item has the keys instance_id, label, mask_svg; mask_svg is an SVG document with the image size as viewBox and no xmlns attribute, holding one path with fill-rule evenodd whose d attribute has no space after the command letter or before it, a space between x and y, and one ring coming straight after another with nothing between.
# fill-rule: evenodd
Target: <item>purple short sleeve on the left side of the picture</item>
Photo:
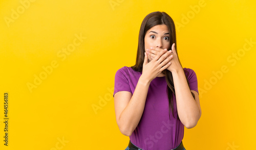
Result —
<instances>
[{"instance_id":1,"label":"purple short sleeve on the left side of the picture","mask_svg":"<svg viewBox=\"0 0 256 150\"><path fill-rule=\"evenodd\" d=\"M130 88L129 80L128 80L128 74L125 72L124 67L118 69L115 74L115 86L114 86L114 94L119 91L128 91L132 93L132 90Z\"/></svg>"}]
</instances>

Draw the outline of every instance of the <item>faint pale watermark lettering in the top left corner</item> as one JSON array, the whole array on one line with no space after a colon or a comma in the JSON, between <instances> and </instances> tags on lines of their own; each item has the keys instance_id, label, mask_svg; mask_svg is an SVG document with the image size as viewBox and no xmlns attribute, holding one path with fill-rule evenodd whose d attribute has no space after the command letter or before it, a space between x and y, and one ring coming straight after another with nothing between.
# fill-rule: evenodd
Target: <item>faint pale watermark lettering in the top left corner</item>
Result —
<instances>
[{"instance_id":1,"label":"faint pale watermark lettering in the top left corner","mask_svg":"<svg viewBox=\"0 0 256 150\"><path fill-rule=\"evenodd\" d=\"M35 2L35 0L20 0L20 5L15 10L11 9L11 17L4 17L7 27L10 27L10 23L17 20L19 16L25 12L25 10L29 9L31 2Z\"/></svg>"}]
</instances>

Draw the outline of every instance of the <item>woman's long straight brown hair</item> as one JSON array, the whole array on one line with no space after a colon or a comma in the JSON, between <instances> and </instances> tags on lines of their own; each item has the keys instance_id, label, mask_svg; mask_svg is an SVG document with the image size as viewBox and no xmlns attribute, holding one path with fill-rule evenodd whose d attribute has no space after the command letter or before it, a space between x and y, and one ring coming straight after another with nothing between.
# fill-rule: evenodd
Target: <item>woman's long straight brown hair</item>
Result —
<instances>
[{"instance_id":1,"label":"woman's long straight brown hair","mask_svg":"<svg viewBox=\"0 0 256 150\"><path fill-rule=\"evenodd\" d=\"M169 30L169 42L170 46L172 46L173 43L175 43L175 49L177 52L177 42L176 42L176 31L175 31L175 24L173 19L166 14L165 12L152 12L148 14L142 21L140 26L140 32L139 32L139 43L138 43L138 50L137 50L137 57L136 57L136 64L132 66L132 69L135 71L142 72L143 68L143 62L144 62L144 52L145 52L145 45L144 45L144 38L145 34L148 30L150 30L152 27L165 24L168 27ZM178 56L178 53L177 53ZM178 60L180 62L180 59L178 57ZM180 63L181 64L181 63ZM184 70L186 71L186 70ZM169 99L169 118L170 118L170 110L172 110L173 116L174 116L174 98L175 96L175 88L174 88L174 81L173 81L173 74L169 70L165 69L163 71L165 74L165 80L167 83L167 93L168 93L168 99ZM187 80L188 83L188 80ZM189 86L189 84L188 84ZM194 93L191 92L193 97L195 98ZM175 117L175 116L174 116ZM179 116L178 116L179 118Z\"/></svg>"}]
</instances>

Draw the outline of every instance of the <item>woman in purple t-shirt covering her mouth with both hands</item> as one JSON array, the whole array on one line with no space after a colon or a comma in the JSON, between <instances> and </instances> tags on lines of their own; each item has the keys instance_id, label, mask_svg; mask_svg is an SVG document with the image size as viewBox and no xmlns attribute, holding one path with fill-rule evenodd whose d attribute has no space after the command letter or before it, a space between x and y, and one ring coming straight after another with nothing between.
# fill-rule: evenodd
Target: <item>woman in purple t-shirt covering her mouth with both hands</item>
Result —
<instances>
[{"instance_id":1,"label":"woman in purple t-shirt covering her mouth with both hands","mask_svg":"<svg viewBox=\"0 0 256 150\"><path fill-rule=\"evenodd\" d=\"M196 73L182 68L176 49L173 19L165 12L148 14L136 64L115 75L116 121L130 136L126 149L185 149L184 126L195 127L201 117Z\"/></svg>"}]
</instances>

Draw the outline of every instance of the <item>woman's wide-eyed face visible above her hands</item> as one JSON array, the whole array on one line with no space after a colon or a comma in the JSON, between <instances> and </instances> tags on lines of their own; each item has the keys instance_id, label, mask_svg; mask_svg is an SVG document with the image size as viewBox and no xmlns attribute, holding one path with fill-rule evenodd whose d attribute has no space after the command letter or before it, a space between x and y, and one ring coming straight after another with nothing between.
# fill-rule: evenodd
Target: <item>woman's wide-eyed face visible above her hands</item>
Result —
<instances>
[{"instance_id":1,"label":"woman's wide-eyed face visible above her hands","mask_svg":"<svg viewBox=\"0 0 256 150\"><path fill-rule=\"evenodd\" d=\"M167 48L167 50L169 50L170 42L168 27L165 24L152 27L146 32L144 43L145 50L150 49L150 47ZM148 56L148 60L151 61L152 58Z\"/></svg>"}]
</instances>

